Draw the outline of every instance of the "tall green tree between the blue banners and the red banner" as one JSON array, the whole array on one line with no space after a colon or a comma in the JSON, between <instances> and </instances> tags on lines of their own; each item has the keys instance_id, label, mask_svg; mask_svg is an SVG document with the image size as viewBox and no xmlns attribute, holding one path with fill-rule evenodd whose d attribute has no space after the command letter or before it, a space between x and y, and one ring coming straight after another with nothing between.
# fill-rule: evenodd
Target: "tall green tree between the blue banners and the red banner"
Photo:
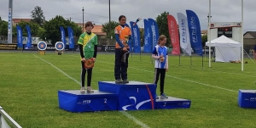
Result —
<instances>
[{"instance_id":1,"label":"tall green tree between the blue banners and the red banner","mask_svg":"<svg viewBox=\"0 0 256 128\"><path fill-rule=\"evenodd\" d=\"M164 12L164 13L158 15L156 18L156 22L158 25L159 34L165 35L167 38L166 47L171 47L171 38L169 36L168 22L167 22L168 14L169 14L168 12Z\"/></svg>"}]
</instances>

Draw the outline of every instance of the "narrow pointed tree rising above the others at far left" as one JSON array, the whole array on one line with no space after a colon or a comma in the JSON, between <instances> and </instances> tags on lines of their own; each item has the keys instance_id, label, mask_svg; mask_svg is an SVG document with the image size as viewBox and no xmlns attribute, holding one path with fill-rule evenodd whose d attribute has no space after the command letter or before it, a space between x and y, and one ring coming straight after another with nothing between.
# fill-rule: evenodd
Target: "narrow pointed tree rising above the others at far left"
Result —
<instances>
[{"instance_id":1,"label":"narrow pointed tree rising above the others at far left","mask_svg":"<svg viewBox=\"0 0 256 128\"><path fill-rule=\"evenodd\" d=\"M44 18L44 12L41 9L41 7L36 6L34 10L31 12L32 22L37 23L38 25L43 25L45 18Z\"/></svg>"}]
</instances>

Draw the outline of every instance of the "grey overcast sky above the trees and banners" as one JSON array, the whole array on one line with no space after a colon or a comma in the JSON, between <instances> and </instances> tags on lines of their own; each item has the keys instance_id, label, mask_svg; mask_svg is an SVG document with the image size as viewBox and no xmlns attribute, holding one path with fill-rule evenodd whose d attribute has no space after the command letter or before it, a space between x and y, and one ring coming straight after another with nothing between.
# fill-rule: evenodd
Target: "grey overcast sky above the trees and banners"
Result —
<instances>
[{"instance_id":1,"label":"grey overcast sky above the trees and banners","mask_svg":"<svg viewBox=\"0 0 256 128\"><path fill-rule=\"evenodd\" d=\"M96 25L108 22L108 0L13 0L13 18L30 18L32 10L39 6L46 20L60 14L76 23L87 20ZM0 0L0 16L8 19L9 0ZM212 22L240 22L241 0L212 0ZM256 0L244 0L244 31L256 31ZM177 13L193 10L201 21L201 30L207 30L209 0L111 0L111 19L118 21L124 14L127 21L138 17L155 19L163 12L169 12L175 18ZM143 20L138 23L143 27Z\"/></svg>"}]
</instances>

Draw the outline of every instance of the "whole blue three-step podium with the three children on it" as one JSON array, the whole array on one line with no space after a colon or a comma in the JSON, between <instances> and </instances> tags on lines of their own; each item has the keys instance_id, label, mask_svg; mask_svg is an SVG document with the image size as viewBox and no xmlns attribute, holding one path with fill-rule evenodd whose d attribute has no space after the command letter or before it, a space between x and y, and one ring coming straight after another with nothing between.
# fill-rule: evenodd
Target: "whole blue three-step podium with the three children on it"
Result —
<instances>
[{"instance_id":1,"label":"whole blue three-step podium with the three children on it","mask_svg":"<svg viewBox=\"0 0 256 128\"><path fill-rule=\"evenodd\" d=\"M80 90L59 90L60 109L73 113L145 110L189 109L191 101L177 97L155 99L156 85L140 81L115 83L98 81L99 90L81 93Z\"/></svg>"}]
</instances>

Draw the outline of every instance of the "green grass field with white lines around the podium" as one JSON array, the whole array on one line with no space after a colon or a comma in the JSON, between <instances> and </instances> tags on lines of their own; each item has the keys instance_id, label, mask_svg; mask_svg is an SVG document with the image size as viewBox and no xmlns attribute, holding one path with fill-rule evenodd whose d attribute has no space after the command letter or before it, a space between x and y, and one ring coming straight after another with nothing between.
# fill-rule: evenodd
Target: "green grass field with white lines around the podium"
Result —
<instances>
[{"instance_id":1,"label":"green grass field with white lines around the podium","mask_svg":"<svg viewBox=\"0 0 256 128\"><path fill-rule=\"evenodd\" d=\"M154 65L149 55L129 58L130 81L153 82ZM99 53L93 70L92 87L97 81L114 81L111 53ZM70 113L58 108L58 90L79 89L79 53L0 53L0 106L22 127L255 127L255 109L241 109L239 89L256 89L256 64L212 63L200 57L170 56L165 92L191 100L189 109L156 109ZM58 69L58 70L57 70ZM157 93L160 94L159 88ZM128 115L127 115L128 114ZM133 119L128 118L132 116Z\"/></svg>"}]
</instances>

